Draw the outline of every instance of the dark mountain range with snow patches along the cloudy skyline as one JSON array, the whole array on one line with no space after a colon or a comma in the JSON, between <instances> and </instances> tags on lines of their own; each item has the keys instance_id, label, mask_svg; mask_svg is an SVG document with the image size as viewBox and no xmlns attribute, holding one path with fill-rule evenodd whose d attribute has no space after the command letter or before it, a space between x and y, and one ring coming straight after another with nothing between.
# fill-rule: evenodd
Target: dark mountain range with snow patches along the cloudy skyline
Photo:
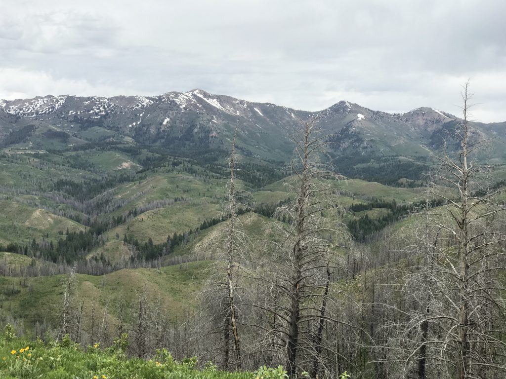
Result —
<instances>
[{"instance_id":1,"label":"dark mountain range with snow patches along the cloudy skyline","mask_svg":"<svg viewBox=\"0 0 506 379\"><path fill-rule=\"evenodd\" d=\"M255 103L201 89L155 97L45 96L0 101L0 147L5 152L64 152L94 145L138 145L195 157L237 145L252 162L279 166L290 159L301 120L319 118L331 134L330 156L344 174L384 181L416 180L427 158L458 148L459 118L421 107L391 114L340 101L319 112ZM506 122L473 123L472 138L486 139L481 160L506 161ZM221 159L221 158L217 158Z\"/></svg>"}]
</instances>

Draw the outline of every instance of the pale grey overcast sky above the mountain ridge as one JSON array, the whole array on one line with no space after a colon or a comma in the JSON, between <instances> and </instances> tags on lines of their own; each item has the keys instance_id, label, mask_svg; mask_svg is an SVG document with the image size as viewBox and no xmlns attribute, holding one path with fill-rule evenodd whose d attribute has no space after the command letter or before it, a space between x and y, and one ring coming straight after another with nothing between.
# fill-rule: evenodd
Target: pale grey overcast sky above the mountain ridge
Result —
<instances>
[{"instance_id":1,"label":"pale grey overcast sky above the mountain ridge","mask_svg":"<svg viewBox=\"0 0 506 379\"><path fill-rule=\"evenodd\" d=\"M0 99L200 88L506 121L503 0L3 0Z\"/></svg>"}]
</instances>

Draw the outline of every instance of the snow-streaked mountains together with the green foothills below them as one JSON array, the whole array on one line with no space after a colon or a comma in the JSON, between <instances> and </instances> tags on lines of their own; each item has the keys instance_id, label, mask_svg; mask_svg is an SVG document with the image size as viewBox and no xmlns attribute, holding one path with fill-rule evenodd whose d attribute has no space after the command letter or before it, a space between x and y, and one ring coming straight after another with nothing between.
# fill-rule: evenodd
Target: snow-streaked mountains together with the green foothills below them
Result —
<instances>
[{"instance_id":1,"label":"snow-streaked mountains together with the green foothills below them","mask_svg":"<svg viewBox=\"0 0 506 379\"><path fill-rule=\"evenodd\" d=\"M344 209L336 222L346 225L357 252L382 262L387 238L400 244L412 233L407 215L425 199L432 154L458 150L457 116L432 108L390 114L347 101L307 112L199 89L0 101L2 316L46 325L40 330L57 325L58 274L75 268L88 320L107 315L116 325L119 306L109 304L136 306L144 288L160 296L171 322L186 317L216 259L208 246L226 224L234 135L235 184L247 190L238 196L240 220L260 250L261 241L279 237L272 226L287 221L275 212L293 199L286 184L294 177L283 167L293 157L292 137L314 117L329 134L322 158L351 178L331 183L329 196ZM488 143L476 158L502 165L489 181L503 187L506 122L471 129L472 138ZM348 262L355 277L355 258Z\"/></svg>"}]
</instances>

